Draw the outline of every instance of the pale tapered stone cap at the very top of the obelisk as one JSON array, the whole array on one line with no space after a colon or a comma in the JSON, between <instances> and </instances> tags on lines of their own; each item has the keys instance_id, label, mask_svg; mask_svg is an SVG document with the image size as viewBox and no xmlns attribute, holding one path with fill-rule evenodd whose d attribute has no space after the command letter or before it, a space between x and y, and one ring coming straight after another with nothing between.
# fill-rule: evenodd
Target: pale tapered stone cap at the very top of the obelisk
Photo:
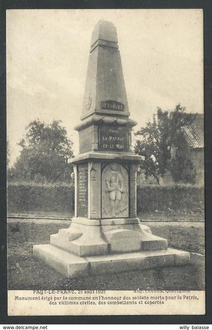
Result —
<instances>
[{"instance_id":1,"label":"pale tapered stone cap at the very top of the obelisk","mask_svg":"<svg viewBox=\"0 0 212 330\"><path fill-rule=\"evenodd\" d=\"M112 22L103 20L97 22L92 32L90 46L93 46L99 39L118 43L116 27Z\"/></svg>"}]
</instances>

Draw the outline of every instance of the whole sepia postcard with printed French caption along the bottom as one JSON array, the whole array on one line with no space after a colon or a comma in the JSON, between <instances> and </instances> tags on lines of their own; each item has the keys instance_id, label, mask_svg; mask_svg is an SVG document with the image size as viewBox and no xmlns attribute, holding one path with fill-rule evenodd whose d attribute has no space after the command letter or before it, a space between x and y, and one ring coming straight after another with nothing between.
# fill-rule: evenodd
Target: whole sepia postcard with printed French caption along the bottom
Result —
<instances>
[{"instance_id":1,"label":"whole sepia postcard with printed French caption along the bottom","mask_svg":"<svg viewBox=\"0 0 212 330\"><path fill-rule=\"evenodd\" d=\"M201 9L7 10L8 314L203 315Z\"/></svg>"}]
</instances>

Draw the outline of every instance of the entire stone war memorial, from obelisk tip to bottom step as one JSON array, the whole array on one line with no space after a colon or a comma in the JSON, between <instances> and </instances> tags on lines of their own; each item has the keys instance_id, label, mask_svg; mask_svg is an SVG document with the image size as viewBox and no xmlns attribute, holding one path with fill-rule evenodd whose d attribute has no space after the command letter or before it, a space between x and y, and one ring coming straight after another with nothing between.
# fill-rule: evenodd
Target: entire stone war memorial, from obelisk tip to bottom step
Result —
<instances>
[{"instance_id":1,"label":"entire stone war memorial, from obelisk tip to bottom step","mask_svg":"<svg viewBox=\"0 0 212 330\"><path fill-rule=\"evenodd\" d=\"M116 27L99 21L91 37L75 172L75 217L70 228L34 245L34 256L67 277L177 266L189 253L168 249L136 217L136 173L143 156L131 148Z\"/></svg>"}]
</instances>

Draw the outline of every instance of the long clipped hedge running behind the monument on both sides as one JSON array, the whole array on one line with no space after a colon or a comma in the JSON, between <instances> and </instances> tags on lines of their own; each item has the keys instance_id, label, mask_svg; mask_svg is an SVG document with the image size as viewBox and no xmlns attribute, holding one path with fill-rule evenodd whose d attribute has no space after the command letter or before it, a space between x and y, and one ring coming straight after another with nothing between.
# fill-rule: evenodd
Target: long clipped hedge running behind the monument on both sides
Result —
<instances>
[{"instance_id":1,"label":"long clipped hedge running behind the monument on both sides","mask_svg":"<svg viewBox=\"0 0 212 330\"><path fill-rule=\"evenodd\" d=\"M199 213L204 210L204 188L192 185L138 186L137 211ZM8 185L8 213L24 211L71 212L74 210L74 186Z\"/></svg>"}]
</instances>

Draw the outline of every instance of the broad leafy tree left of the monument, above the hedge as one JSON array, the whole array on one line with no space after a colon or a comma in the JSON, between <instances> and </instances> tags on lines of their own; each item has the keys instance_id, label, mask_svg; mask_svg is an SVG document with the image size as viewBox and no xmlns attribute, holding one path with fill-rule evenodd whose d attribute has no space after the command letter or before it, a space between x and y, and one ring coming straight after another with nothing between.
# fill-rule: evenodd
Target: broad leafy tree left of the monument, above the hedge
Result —
<instances>
[{"instance_id":1,"label":"broad leafy tree left of the monument, above the hedge","mask_svg":"<svg viewBox=\"0 0 212 330\"><path fill-rule=\"evenodd\" d=\"M18 143L22 150L12 169L13 178L51 183L70 181L73 169L68 159L73 157L73 142L60 123L54 120L45 125L39 119L29 123L25 137Z\"/></svg>"}]
</instances>

